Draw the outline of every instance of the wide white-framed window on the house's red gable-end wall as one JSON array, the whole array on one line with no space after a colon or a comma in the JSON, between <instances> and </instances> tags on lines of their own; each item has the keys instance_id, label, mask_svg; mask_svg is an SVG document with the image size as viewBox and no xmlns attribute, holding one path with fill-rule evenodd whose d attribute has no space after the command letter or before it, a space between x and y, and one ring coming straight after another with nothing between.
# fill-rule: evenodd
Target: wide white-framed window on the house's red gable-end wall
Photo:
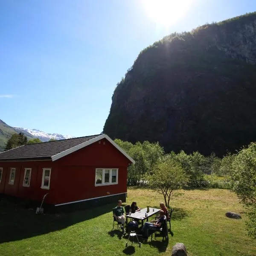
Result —
<instances>
[{"instance_id":1,"label":"wide white-framed window on the house's red gable-end wall","mask_svg":"<svg viewBox=\"0 0 256 256\"><path fill-rule=\"evenodd\" d=\"M118 184L118 169L96 169L95 186Z\"/></svg>"}]
</instances>

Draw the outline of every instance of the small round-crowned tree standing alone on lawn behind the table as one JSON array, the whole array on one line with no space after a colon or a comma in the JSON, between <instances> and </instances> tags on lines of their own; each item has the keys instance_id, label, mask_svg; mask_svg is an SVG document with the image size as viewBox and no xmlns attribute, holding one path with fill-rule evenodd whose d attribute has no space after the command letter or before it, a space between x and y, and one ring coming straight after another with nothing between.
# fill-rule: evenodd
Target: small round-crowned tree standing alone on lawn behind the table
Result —
<instances>
[{"instance_id":1,"label":"small round-crowned tree standing alone on lawn behind the table","mask_svg":"<svg viewBox=\"0 0 256 256\"><path fill-rule=\"evenodd\" d=\"M154 171L147 175L147 181L151 189L163 194L166 207L169 207L174 190L186 183L186 175L181 164L170 158L159 163Z\"/></svg>"}]
</instances>

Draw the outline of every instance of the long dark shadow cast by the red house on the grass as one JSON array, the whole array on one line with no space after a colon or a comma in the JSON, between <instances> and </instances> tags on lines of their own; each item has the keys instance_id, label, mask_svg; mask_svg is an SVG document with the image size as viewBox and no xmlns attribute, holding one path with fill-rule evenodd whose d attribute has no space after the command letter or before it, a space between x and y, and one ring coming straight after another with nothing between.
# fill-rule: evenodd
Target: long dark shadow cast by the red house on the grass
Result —
<instances>
[{"instance_id":1,"label":"long dark shadow cast by the red house on the grass","mask_svg":"<svg viewBox=\"0 0 256 256\"><path fill-rule=\"evenodd\" d=\"M60 214L35 215L9 201L0 201L0 244L62 230L81 221L111 212L113 204Z\"/></svg>"}]
</instances>

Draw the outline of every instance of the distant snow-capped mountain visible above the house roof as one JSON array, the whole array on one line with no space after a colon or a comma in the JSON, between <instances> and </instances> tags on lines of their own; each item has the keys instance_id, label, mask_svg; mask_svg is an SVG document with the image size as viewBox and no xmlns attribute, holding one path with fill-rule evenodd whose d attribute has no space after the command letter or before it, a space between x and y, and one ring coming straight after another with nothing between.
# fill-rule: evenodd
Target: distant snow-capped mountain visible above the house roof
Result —
<instances>
[{"instance_id":1,"label":"distant snow-capped mountain visible above the house roof","mask_svg":"<svg viewBox=\"0 0 256 256\"><path fill-rule=\"evenodd\" d=\"M49 141L50 139L55 139L55 140L64 140L64 139L70 139L70 138L75 138L73 136L69 135L61 135L61 134L49 134L44 131L36 130L36 129L26 129L22 127L14 127L15 130L18 132L23 132L26 131L27 133L31 134L33 137L36 137L40 139L41 141Z\"/></svg>"}]
</instances>

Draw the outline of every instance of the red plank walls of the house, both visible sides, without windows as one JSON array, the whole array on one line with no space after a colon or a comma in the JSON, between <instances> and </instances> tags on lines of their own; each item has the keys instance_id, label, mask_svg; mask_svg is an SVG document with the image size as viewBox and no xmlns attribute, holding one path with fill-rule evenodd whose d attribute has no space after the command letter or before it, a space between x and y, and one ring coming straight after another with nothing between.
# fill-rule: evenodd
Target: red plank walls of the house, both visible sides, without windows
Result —
<instances>
[{"instance_id":1,"label":"red plank walls of the house, both visible sides, without windows","mask_svg":"<svg viewBox=\"0 0 256 256\"><path fill-rule=\"evenodd\" d=\"M0 193L19 198L62 204L127 191L128 160L108 140L102 139L54 162L0 162L3 167ZM10 168L16 168L14 185L8 184ZM30 186L23 186L25 168L32 168ZM51 168L50 189L41 189L43 168ZM118 184L95 186L96 168L119 169ZM108 192L108 193L107 193Z\"/></svg>"}]
</instances>

